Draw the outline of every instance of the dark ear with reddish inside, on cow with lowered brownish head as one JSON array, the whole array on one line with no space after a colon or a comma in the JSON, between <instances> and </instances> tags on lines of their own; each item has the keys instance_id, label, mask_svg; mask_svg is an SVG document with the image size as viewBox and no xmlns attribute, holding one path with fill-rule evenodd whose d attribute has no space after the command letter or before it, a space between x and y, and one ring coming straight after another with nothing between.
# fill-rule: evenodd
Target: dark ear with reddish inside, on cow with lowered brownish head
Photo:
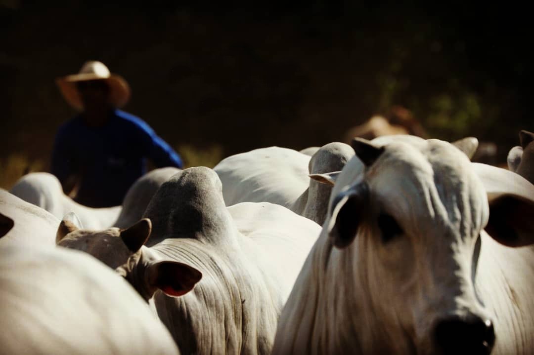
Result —
<instances>
[{"instance_id":1,"label":"dark ear with reddish inside, on cow with lowered brownish head","mask_svg":"<svg viewBox=\"0 0 534 355\"><path fill-rule=\"evenodd\" d=\"M202 273L184 263L159 261L148 265L146 283L152 296L161 289L169 296L182 296L190 292L202 279Z\"/></svg>"}]
</instances>

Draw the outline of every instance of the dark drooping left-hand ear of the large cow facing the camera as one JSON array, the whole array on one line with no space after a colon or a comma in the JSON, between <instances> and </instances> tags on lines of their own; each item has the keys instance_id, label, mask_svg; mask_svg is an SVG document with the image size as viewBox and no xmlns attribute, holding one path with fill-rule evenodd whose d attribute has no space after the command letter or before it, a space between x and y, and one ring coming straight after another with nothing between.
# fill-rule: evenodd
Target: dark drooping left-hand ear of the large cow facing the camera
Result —
<instances>
[{"instance_id":1,"label":"dark drooping left-hand ear of the large cow facing the camera","mask_svg":"<svg viewBox=\"0 0 534 355\"><path fill-rule=\"evenodd\" d=\"M344 248L356 237L360 221L369 200L367 183L360 182L340 192L332 202L332 213L328 222L328 237L337 248Z\"/></svg>"}]
</instances>

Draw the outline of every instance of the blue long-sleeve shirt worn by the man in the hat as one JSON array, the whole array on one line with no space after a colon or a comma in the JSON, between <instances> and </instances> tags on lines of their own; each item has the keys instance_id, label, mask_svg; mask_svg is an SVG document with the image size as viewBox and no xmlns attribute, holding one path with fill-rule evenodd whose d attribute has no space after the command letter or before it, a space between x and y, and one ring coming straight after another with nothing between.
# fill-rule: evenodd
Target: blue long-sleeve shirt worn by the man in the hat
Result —
<instances>
[{"instance_id":1,"label":"blue long-sleeve shirt worn by the man in the hat","mask_svg":"<svg viewBox=\"0 0 534 355\"><path fill-rule=\"evenodd\" d=\"M80 174L75 200L85 206L122 203L130 186L146 173L146 158L158 167L183 167L180 156L146 122L114 109L101 127L86 125L77 116L62 125L52 152L52 174L61 183Z\"/></svg>"}]
</instances>

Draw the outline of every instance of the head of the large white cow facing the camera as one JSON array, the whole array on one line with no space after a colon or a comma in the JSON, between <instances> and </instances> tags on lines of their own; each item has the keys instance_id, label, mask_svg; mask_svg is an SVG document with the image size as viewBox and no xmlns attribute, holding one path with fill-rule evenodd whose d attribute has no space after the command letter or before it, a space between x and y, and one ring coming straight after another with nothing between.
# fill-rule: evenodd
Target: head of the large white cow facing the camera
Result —
<instances>
[{"instance_id":1,"label":"head of the large white cow facing the camera","mask_svg":"<svg viewBox=\"0 0 534 355\"><path fill-rule=\"evenodd\" d=\"M490 222L501 244L532 243L534 233L507 234L515 227L506 216L520 203L534 217L534 203L508 194L490 209L471 146L462 154L444 141L398 136L352 147L358 159L336 180L324 228L330 262L356 270L362 319L372 323L362 332L387 333L399 352L489 353L494 319L474 286L480 236Z\"/></svg>"}]
</instances>

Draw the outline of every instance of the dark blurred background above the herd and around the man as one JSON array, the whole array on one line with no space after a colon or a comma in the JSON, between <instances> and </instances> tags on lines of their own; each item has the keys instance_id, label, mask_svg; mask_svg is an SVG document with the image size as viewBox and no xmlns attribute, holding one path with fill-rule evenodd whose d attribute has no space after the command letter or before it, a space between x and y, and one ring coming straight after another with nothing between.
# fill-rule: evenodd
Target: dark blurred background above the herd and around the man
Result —
<instances>
[{"instance_id":1,"label":"dark blurred background above the herd and around the man","mask_svg":"<svg viewBox=\"0 0 534 355\"><path fill-rule=\"evenodd\" d=\"M505 162L534 130L531 17L519 2L0 0L0 185L48 169L75 114L54 79L86 60L125 77L124 109L179 153L321 146L400 104Z\"/></svg>"}]
</instances>

